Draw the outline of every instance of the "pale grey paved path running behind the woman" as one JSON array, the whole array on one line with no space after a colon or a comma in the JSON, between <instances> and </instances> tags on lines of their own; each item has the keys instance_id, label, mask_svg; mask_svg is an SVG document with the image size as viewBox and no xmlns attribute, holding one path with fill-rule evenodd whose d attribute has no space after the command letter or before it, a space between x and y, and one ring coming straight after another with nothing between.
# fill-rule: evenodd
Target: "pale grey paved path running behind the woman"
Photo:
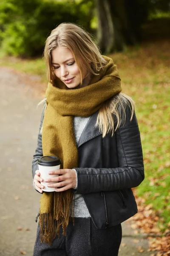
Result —
<instances>
[{"instance_id":1,"label":"pale grey paved path running behind the woman","mask_svg":"<svg viewBox=\"0 0 170 256\"><path fill-rule=\"evenodd\" d=\"M41 113L36 105L42 99L37 93L40 82L35 80L37 76L0 67L0 256L33 254L40 194L31 185L31 161ZM137 238L139 243L134 243L134 230L127 224L122 227L119 256L151 255L147 240ZM139 245L143 253L138 252Z\"/></svg>"}]
</instances>

